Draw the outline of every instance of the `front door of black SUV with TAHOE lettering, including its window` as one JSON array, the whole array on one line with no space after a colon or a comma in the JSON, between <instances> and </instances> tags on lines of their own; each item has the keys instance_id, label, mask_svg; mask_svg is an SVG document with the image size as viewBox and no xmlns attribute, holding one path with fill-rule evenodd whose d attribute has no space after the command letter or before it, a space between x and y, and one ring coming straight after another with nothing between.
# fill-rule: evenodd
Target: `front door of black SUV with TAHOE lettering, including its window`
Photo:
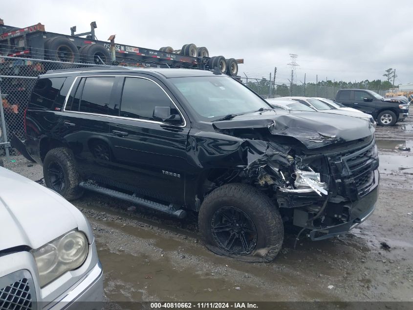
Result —
<instances>
[{"instance_id":1,"label":"front door of black SUV with TAHOE lettering, including its window","mask_svg":"<svg viewBox=\"0 0 413 310\"><path fill-rule=\"evenodd\" d=\"M124 78L120 118L110 123L109 139L124 181L133 191L183 205L189 124L161 85L154 78ZM152 117L156 106L171 107L182 123L156 121Z\"/></svg>"}]
</instances>

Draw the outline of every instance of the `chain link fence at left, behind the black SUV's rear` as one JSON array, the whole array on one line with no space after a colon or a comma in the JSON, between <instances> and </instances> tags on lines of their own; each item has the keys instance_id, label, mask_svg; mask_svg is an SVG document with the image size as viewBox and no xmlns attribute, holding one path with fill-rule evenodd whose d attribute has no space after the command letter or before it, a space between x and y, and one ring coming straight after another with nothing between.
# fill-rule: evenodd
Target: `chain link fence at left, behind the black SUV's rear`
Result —
<instances>
[{"instance_id":1,"label":"chain link fence at left, behind the black SUV's rear","mask_svg":"<svg viewBox=\"0 0 413 310\"><path fill-rule=\"evenodd\" d=\"M24 111L38 75L49 70L96 66L98 65L0 56L0 156L17 154L10 147L12 134L24 140Z\"/></svg>"}]
</instances>

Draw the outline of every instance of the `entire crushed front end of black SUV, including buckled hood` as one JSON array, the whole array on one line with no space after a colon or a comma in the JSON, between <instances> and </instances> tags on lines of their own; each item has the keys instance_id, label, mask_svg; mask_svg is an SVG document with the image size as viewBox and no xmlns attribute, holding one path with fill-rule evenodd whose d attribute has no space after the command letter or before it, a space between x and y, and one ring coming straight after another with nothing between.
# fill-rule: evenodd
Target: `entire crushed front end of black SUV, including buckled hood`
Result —
<instances>
[{"instance_id":1,"label":"entire crushed front end of black SUV, including buckled hood","mask_svg":"<svg viewBox=\"0 0 413 310\"><path fill-rule=\"evenodd\" d=\"M241 180L271 197L284 223L320 240L346 233L371 215L379 159L370 123L312 112L261 117L214 125L243 139L237 149L246 154L247 164L238 166Z\"/></svg>"}]
</instances>

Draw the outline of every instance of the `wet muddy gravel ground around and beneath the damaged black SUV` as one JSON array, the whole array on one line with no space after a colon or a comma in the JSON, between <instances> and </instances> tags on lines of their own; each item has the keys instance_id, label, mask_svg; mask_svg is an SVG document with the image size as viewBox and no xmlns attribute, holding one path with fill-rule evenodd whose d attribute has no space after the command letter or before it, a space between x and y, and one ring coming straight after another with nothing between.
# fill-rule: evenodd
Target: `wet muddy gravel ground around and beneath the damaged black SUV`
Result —
<instances>
[{"instance_id":1,"label":"wet muddy gravel ground around and beneath the damaged black SUV","mask_svg":"<svg viewBox=\"0 0 413 310\"><path fill-rule=\"evenodd\" d=\"M175 220L128 211L87 193L89 219L110 301L413 301L413 118L378 127L381 184L376 211L344 236L310 241L287 232L271 263L217 256L199 241L196 214ZM412 151L401 150L411 147ZM42 167L22 156L5 167L32 180Z\"/></svg>"}]
</instances>

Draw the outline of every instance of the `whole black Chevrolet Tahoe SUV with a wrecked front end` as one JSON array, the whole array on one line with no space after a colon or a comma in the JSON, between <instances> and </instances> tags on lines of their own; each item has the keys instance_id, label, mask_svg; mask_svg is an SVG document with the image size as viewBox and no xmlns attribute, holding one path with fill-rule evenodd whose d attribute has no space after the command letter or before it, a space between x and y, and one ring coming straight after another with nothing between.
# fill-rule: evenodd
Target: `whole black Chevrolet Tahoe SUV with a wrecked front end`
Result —
<instances>
[{"instance_id":1,"label":"whole black Chevrolet Tahoe SUV with a wrecked front end","mask_svg":"<svg viewBox=\"0 0 413 310\"><path fill-rule=\"evenodd\" d=\"M47 72L25 128L28 155L66 199L88 190L178 218L196 212L209 249L249 262L276 257L284 225L313 240L348 232L378 195L370 123L273 110L218 72Z\"/></svg>"}]
</instances>

